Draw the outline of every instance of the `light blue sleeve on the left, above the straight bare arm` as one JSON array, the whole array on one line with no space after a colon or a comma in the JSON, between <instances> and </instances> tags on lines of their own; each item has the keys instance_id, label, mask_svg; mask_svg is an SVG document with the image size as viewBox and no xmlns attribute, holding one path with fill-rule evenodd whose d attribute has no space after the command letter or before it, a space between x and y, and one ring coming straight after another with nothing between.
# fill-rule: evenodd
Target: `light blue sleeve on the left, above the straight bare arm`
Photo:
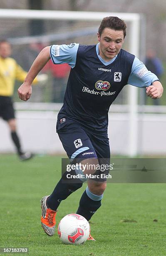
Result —
<instances>
[{"instance_id":1,"label":"light blue sleeve on the left, above the straight bare arm","mask_svg":"<svg viewBox=\"0 0 166 256\"><path fill-rule=\"evenodd\" d=\"M53 44L50 47L50 56L54 64L68 63L70 67L74 68L77 58L77 50L79 44Z\"/></svg>"}]
</instances>

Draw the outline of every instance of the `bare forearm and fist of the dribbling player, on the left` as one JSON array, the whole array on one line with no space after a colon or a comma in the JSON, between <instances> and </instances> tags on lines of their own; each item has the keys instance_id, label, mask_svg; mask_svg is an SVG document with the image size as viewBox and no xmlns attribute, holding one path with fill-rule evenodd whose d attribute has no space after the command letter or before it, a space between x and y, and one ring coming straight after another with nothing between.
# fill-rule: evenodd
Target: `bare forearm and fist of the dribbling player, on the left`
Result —
<instances>
[{"instance_id":1,"label":"bare forearm and fist of the dribbling player, on the left","mask_svg":"<svg viewBox=\"0 0 166 256\"><path fill-rule=\"evenodd\" d=\"M50 46L42 49L40 54L37 56L35 61L33 62L25 81L18 89L18 96L21 100L27 101L29 100L32 94L32 82L37 76L37 74L42 70L47 61L50 59Z\"/></svg>"}]
</instances>

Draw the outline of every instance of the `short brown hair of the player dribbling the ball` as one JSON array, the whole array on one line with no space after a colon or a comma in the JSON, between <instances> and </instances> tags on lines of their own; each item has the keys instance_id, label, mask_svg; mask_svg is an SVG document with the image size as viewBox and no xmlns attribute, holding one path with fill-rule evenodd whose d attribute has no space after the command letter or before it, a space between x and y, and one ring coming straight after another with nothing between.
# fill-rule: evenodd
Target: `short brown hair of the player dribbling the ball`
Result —
<instances>
[{"instance_id":1,"label":"short brown hair of the player dribbling the ball","mask_svg":"<svg viewBox=\"0 0 166 256\"><path fill-rule=\"evenodd\" d=\"M110 17L105 17L102 20L102 23L99 26L98 33L101 36L104 28L111 28L114 30L122 30L124 33L124 38L126 36L126 23L124 20L121 20L118 17L115 16L110 16Z\"/></svg>"}]
</instances>

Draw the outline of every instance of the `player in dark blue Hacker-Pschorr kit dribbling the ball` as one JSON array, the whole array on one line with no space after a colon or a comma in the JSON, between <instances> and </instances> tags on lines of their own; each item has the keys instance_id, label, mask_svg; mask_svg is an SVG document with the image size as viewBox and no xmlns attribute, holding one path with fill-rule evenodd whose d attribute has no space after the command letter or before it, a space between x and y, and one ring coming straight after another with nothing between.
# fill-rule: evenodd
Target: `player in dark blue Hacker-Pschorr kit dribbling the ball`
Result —
<instances>
[{"instance_id":1,"label":"player in dark blue Hacker-Pschorr kit dribbling the ball","mask_svg":"<svg viewBox=\"0 0 166 256\"><path fill-rule=\"evenodd\" d=\"M43 49L35 59L25 82L18 89L20 99L27 101L32 93L32 81L51 58L54 64L68 63L69 74L64 104L57 118L57 133L72 162L94 168L84 170L94 174L96 166L109 163L110 150L107 135L108 111L111 103L126 84L146 88L146 95L157 99L163 87L155 74L133 54L121 49L126 36L126 24L118 17L106 17L98 31L97 45L52 45ZM107 174L109 171L105 170ZM82 174L76 168L72 174ZM99 175L100 170L95 172ZM42 227L45 233L55 233L55 215L62 200L82 187L85 178L67 180L66 172L50 196L41 200ZM77 214L90 220L101 206L106 178L92 178L87 181ZM89 240L94 240L92 236Z\"/></svg>"}]
</instances>

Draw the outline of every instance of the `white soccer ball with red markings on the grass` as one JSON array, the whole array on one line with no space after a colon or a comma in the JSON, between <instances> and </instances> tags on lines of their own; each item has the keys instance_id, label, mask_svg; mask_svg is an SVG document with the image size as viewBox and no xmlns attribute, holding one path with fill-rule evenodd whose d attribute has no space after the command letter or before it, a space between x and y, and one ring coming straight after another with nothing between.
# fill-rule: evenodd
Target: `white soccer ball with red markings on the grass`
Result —
<instances>
[{"instance_id":1,"label":"white soccer ball with red markings on the grass","mask_svg":"<svg viewBox=\"0 0 166 256\"><path fill-rule=\"evenodd\" d=\"M82 244L90 233L89 222L81 215L71 213L59 222L58 235L65 244Z\"/></svg>"}]
</instances>

